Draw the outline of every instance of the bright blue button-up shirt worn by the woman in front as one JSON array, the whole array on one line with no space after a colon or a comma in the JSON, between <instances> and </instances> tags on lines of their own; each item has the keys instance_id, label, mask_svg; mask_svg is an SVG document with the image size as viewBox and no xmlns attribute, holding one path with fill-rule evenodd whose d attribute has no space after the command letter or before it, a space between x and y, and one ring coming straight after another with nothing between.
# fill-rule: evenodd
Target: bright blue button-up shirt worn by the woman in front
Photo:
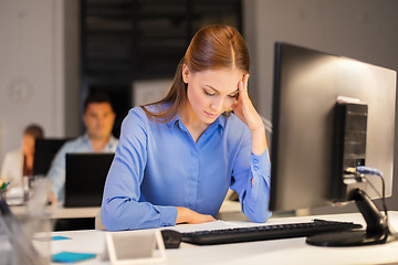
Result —
<instances>
[{"instance_id":1,"label":"bright blue button-up shirt worn by the woman in front","mask_svg":"<svg viewBox=\"0 0 398 265\"><path fill-rule=\"evenodd\" d=\"M175 225L175 206L216 216L229 188L249 219L265 222L270 169L268 150L251 152L250 130L233 114L218 117L195 142L179 116L157 123L135 107L122 125L102 222L111 231Z\"/></svg>"}]
</instances>

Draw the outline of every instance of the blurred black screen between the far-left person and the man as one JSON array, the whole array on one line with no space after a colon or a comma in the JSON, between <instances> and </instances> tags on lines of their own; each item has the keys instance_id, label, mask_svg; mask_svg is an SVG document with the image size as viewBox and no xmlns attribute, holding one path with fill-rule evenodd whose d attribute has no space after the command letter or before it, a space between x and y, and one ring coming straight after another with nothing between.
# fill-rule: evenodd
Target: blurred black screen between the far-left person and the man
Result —
<instances>
[{"instance_id":1,"label":"blurred black screen between the far-left person and the man","mask_svg":"<svg viewBox=\"0 0 398 265\"><path fill-rule=\"evenodd\" d=\"M33 156L33 176L46 176L56 152L70 138L35 139Z\"/></svg>"}]
</instances>

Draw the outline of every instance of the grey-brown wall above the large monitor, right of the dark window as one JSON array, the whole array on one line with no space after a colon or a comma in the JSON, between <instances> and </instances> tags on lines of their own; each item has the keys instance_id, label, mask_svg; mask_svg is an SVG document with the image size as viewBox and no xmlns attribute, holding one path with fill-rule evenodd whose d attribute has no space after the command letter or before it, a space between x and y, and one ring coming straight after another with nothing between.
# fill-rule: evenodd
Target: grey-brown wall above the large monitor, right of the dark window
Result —
<instances>
[{"instance_id":1,"label":"grey-brown wall above the large monitor, right of the dark window","mask_svg":"<svg viewBox=\"0 0 398 265\"><path fill-rule=\"evenodd\" d=\"M398 71L398 1L245 0L244 2L245 30L251 34L247 39L251 46L255 74L251 76L250 87L255 98L255 106L266 118L272 117L275 41L308 46ZM398 170L398 167L396 168ZM398 210L397 173L394 184L395 195L388 200L388 204L391 209ZM331 211L335 210L320 209L317 213Z\"/></svg>"}]
</instances>

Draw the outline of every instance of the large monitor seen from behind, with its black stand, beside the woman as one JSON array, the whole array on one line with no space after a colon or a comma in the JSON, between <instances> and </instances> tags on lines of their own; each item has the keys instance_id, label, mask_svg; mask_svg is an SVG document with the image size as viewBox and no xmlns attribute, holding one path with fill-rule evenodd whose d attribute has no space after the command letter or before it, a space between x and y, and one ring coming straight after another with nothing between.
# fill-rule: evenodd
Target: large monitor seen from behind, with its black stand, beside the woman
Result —
<instances>
[{"instance_id":1,"label":"large monitor seen from behind, with its black stand, beside the woman","mask_svg":"<svg viewBox=\"0 0 398 265\"><path fill-rule=\"evenodd\" d=\"M396 72L276 43L273 94L270 209L311 209L355 200L368 233L307 242L362 245L391 240L385 216L366 195L379 197L379 177L366 180L350 171L357 166L377 168L384 173L387 195L391 194Z\"/></svg>"}]
</instances>

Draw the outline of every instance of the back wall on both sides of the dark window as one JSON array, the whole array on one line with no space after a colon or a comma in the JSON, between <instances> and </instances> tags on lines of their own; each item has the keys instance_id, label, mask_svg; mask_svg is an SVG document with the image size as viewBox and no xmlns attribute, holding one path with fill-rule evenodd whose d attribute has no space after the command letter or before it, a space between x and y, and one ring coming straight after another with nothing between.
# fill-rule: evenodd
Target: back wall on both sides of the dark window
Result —
<instances>
[{"instance_id":1,"label":"back wall on both sides of the dark window","mask_svg":"<svg viewBox=\"0 0 398 265\"><path fill-rule=\"evenodd\" d=\"M396 0L243 0L243 9L250 94L269 119L275 41L398 70ZM48 136L78 134L78 0L0 0L0 161L29 123ZM395 177L398 210L397 187Z\"/></svg>"}]
</instances>

